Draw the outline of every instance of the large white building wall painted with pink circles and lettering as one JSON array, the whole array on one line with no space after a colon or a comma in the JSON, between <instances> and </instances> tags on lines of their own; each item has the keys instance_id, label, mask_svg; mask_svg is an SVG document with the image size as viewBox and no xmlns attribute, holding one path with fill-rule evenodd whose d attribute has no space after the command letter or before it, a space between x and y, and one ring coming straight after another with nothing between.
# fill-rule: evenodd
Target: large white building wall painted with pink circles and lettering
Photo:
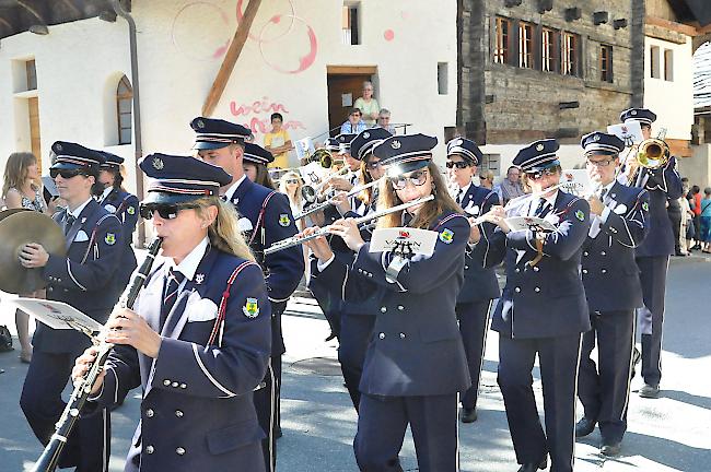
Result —
<instances>
[{"instance_id":1,"label":"large white building wall painted with pink circles and lettering","mask_svg":"<svg viewBox=\"0 0 711 472\"><path fill-rule=\"evenodd\" d=\"M242 0L135 2L143 153L187 154L188 122L200 115L236 27ZM374 66L375 95L408 132L434 134L456 119L456 2L360 2L361 44L341 38L341 2L263 2L213 117L253 125L261 143L269 115L284 115L293 140L328 130L327 66ZM129 79L128 26L91 19L19 34L0 48L0 166L30 149L26 116L14 113L13 60L34 57L43 160L56 140L77 141L127 157L115 143L115 86ZM261 40L259 40L261 39ZM438 93L438 62L448 64L448 93ZM20 62L15 63L19 64ZM354 99L356 97L353 97ZM22 108L22 107L19 107ZM25 114L26 115L26 114ZM345 119L345 117L343 117ZM23 128L24 127L24 128ZM320 140L324 139L320 137ZM439 155L444 146L440 144ZM45 164L45 169L47 165ZM128 188L135 189L129 172Z\"/></svg>"}]
</instances>

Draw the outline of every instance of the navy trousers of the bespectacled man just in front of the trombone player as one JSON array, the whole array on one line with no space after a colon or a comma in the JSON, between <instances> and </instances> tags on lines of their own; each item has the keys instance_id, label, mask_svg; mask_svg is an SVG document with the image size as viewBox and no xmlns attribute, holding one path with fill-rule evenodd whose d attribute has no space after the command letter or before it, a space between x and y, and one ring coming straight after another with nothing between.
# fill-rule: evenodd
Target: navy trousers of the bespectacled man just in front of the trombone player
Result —
<instances>
[{"instance_id":1,"label":"navy trousers of the bespectacled man just in front of the trombone player","mask_svg":"<svg viewBox=\"0 0 711 472\"><path fill-rule=\"evenodd\" d=\"M622 440L634 345L634 310L591 312L593 329L583 334L578 398L585 417L597 421L604 442ZM597 363L591 353L597 343Z\"/></svg>"}]
</instances>

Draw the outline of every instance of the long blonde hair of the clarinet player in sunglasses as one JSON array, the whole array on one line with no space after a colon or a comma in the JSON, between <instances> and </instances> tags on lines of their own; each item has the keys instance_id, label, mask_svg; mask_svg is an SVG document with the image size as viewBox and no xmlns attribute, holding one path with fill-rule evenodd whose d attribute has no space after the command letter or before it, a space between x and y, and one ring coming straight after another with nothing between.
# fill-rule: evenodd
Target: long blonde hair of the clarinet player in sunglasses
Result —
<instances>
[{"instance_id":1,"label":"long blonde hair of the clarinet player in sunglasses","mask_svg":"<svg viewBox=\"0 0 711 472\"><path fill-rule=\"evenodd\" d=\"M218 216L208 226L208 238L212 247L242 259L254 261L255 257L240 231L240 216L231 203L218 197L206 197L190 202L197 206L198 215L206 216L209 206L218 208Z\"/></svg>"}]
</instances>

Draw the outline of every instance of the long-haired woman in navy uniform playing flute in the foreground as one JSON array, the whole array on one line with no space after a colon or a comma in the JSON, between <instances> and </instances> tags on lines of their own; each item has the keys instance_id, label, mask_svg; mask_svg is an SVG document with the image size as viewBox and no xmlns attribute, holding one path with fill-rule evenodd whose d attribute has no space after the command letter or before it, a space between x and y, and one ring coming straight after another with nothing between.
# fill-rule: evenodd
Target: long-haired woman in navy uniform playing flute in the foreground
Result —
<instances>
[{"instance_id":1,"label":"long-haired woman in navy uniform playing flute in the foreground","mask_svg":"<svg viewBox=\"0 0 711 472\"><path fill-rule=\"evenodd\" d=\"M356 258L347 299L375 299L375 326L360 381L356 459L361 470L401 470L398 453L409 424L420 471L458 470L457 392L469 373L457 329L455 303L462 286L469 223L432 163L436 138L392 137L373 149L386 166L378 210L434 196L434 200L383 216L377 227L436 232L431 257L372 252L352 219L331 225ZM311 233L310 228L305 233ZM325 238L308 243L327 279L339 264ZM334 272L336 268L333 269Z\"/></svg>"}]
</instances>

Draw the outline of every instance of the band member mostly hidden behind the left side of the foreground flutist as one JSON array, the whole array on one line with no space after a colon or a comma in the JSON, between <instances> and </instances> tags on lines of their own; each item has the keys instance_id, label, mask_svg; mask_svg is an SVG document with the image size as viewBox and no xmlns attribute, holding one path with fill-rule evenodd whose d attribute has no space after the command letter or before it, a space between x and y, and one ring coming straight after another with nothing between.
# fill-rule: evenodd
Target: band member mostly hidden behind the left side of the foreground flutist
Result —
<instances>
[{"instance_id":1,"label":"band member mostly hidden behind the left side of the foreground flutist","mask_svg":"<svg viewBox=\"0 0 711 472\"><path fill-rule=\"evenodd\" d=\"M362 131L351 142L351 153L353 157L363 163L361 166L363 176L368 176L371 179L370 181L382 177L384 174L384 170L380 165L380 157L373 154L373 148L391 135L392 134L385 129L374 128ZM372 190L372 188L366 189L365 191L368 192L369 190ZM364 211L365 214L375 210L373 193L374 192L369 192L366 194L366 200L363 201L368 208L368 210ZM343 200L342 203L348 205L348 200ZM358 217L362 215L348 210L345 212L345 216ZM310 233L311 232L308 232L308 234ZM361 231L361 236L364 240L370 240L369 232ZM336 244L334 238L337 237L331 237L331 250L338 253L342 263L329 264L320 271L319 267L322 264L318 263L316 257L313 257L311 262L312 275L308 287L314 292L314 296L319 294L323 297L322 294L327 293L329 299L337 300L331 303L338 304L338 319L340 320L338 362L340 363L341 371L343 373L346 388L348 389L348 393L350 394L356 411L358 411L361 398L359 385L363 373L368 341L373 332L375 311L380 308L380 305L377 305L380 300L374 296L369 296L362 299L350 299L350 297L347 296L347 294L353 290L351 287L353 280L350 279L349 283L346 272L347 267L353 261L354 253L342 243L339 241L340 244Z\"/></svg>"}]
</instances>

